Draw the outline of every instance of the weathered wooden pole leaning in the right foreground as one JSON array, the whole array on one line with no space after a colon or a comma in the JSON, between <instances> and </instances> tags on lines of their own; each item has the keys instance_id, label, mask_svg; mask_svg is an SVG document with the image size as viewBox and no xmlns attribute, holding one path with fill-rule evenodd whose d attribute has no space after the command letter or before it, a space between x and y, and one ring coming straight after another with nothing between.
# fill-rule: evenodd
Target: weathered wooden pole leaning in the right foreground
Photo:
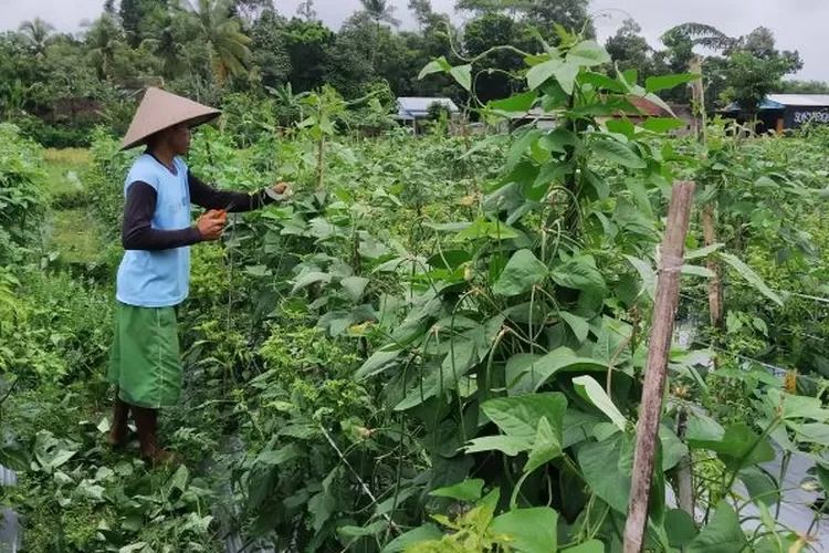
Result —
<instances>
[{"instance_id":1,"label":"weathered wooden pole leaning in the right foreground","mask_svg":"<svg viewBox=\"0 0 829 553\"><path fill-rule=\"evenodd\" d=\"M625 526L625 553L640 553L644 543L668 356L673 338L673 321L679 303L685 237L693 200L693 181L674 182L671 207L668 211L668 228L659 261L657 301L653 307L637 448L633 456L633 481L628 504L628 522Z\"/></svg>"}]
</instances>

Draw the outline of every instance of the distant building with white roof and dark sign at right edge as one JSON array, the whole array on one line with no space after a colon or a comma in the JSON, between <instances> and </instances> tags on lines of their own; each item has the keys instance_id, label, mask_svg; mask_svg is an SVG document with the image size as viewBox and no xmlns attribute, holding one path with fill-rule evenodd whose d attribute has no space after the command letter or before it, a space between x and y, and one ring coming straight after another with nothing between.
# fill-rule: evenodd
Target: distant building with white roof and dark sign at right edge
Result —
<instances>
[{"instance_id":1,"label":"distant building with white roof and dark sign at right edge","mask_svg":"<svg viewBox=\"0 0 829 553\"><path fill-rule=\"evenodd\" d=\"M741 123L748 115L736 104L721 111L725 117ZM829 123L829 94L769 94L757 113L757 132L794 131L806 124Z\"/></svg>"}]
</instances>

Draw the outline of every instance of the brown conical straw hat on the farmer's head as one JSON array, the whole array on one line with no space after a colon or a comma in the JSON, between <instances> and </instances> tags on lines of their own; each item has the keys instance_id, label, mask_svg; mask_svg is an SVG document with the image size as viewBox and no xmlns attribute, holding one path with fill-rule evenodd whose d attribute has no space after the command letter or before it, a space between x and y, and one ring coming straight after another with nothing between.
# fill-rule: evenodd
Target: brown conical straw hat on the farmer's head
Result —
<instances>
[{"instance_id":1,"label":"brown conical straw hat on the farmer's head","mask_svg":"<svg viewBox=\"0 0 829 553\"><path fill-rule=\"evenodd\" d=\"M219 109L150 86L133 117L133 123L129 124L120 149L139 146L149 136L179 123L188 123L195 127L219 115Z\"/></svg>"}]
</instances>

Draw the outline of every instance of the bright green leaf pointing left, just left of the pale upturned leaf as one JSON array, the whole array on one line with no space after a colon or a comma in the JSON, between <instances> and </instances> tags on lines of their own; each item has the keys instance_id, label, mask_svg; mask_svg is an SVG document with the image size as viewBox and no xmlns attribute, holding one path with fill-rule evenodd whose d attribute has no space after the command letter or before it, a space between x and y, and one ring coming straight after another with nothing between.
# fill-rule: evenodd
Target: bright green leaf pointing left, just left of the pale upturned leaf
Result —
<instances>
[{"instance_id":1,"label":"bright green leaf pointing left, just left of the pale upturned leaf","mask_svg":"<svg viewBox=\"0 0 829 553\"><path fill-rule=\"evenodd\" d=\"M481 405L490 420L507 436L533 440L542 418L549 422L553 435L560 442L567 398L553 392L520 397L497 397Z\"/></svg>"}]
</instances>

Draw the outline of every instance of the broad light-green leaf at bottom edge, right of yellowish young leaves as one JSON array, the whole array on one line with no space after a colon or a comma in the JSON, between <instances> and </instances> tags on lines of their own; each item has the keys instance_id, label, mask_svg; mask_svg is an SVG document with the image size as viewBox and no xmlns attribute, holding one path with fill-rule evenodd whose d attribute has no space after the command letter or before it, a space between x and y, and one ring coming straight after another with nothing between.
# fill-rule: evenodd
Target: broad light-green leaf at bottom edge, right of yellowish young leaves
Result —
<instances>
[{"instance_id":1,"label":"broad light-green leaf at bottom edge, right of yellowish young leaves","mask_svg":"<svg viewBox=\"0 0 829 553\"><path fill-rule=\"evenodd\" d=\"M492 521L492 530L510 535L510 549L518 553L555 553L557 529L558 513L548 507L516 509Z\"/></svg>"}]
</instances>

